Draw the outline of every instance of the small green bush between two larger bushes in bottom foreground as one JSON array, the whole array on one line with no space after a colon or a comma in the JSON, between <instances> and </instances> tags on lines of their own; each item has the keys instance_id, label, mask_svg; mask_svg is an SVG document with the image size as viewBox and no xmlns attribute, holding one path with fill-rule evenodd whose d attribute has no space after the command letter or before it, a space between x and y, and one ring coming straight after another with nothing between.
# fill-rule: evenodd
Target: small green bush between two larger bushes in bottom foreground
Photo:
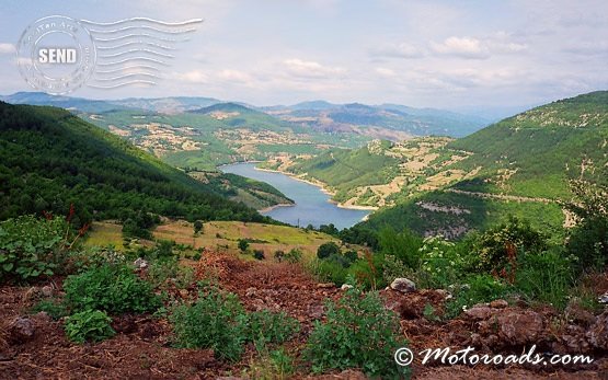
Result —
<instances>
[{"instance_id":1,"label":"small green bush between two larger bushes in bottom foreground","mask_svg":"<svg viewBox=\"0 0 608 380\"><path fill-rule=\"evenodd\" d=\"M248 316L248 338L252 342L282 344L300 331L298 320L285 312L273 313L267 310L252 312Z\"/></svg>"}]
</instances>

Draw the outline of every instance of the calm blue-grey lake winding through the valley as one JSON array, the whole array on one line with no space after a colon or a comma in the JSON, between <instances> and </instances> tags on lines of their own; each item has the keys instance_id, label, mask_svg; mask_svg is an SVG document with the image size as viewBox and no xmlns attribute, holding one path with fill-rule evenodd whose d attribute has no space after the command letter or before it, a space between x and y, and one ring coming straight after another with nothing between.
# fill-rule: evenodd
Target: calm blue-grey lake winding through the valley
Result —
<instances>
[{"instance_id":1,"label":"calm blue-grey lake winding through the valley","mask_svg":"<svg viewBox=\"0 0 608 380\"><path fill-rule=\"evenodd\" d=\"M262 211L276 220L306 227L312 224L333 223L337 229L348 228L362 221L370 211L340 208L330 201L330 195L323 193L320 187L306 182L275 172L255 170L255 163L243 162L220 166L225 173L239 174L248 179L262 181L273 185L276 189L294 199L296 205L275 207Z\"/></svg>"}]
</instances>

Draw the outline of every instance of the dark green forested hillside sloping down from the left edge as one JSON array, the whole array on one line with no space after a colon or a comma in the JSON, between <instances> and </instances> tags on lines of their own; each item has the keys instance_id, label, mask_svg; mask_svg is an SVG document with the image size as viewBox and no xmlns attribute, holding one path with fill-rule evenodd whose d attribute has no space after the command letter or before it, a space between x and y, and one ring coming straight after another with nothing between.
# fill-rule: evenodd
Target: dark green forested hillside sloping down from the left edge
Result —
<instances>
[{"instance_id":1,"label":"dark green forested hillside sloping down from the left edge","mask_svg":"<svg viewBox=\"0 0 608 380\"><path fill-rule=\"evenodd\" d=\"M65 110L0 102L0 219L73 204L81 222L141 211L266 220L228 200L223 181L203 184Z\"/></svg>"}]
</instances>

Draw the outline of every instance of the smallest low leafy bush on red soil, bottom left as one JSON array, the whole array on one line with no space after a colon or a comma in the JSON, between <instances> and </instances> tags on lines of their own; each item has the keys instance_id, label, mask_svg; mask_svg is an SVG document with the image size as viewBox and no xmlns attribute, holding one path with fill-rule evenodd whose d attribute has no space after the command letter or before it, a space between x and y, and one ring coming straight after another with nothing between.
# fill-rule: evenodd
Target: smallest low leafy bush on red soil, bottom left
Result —
<instances>
[{"instance_id":1,"label":"smallest low leafy bush on red soil, bottom left","mask_svg":"<svg viewBox=\"0 0 608 380\"><path fill-rule=\"evenodd\" d=\"M66 335L72 342L101 342L114 336L112 319L99 310L85 310L68 316L64 326Z\"/></svg>"}]
</instances>

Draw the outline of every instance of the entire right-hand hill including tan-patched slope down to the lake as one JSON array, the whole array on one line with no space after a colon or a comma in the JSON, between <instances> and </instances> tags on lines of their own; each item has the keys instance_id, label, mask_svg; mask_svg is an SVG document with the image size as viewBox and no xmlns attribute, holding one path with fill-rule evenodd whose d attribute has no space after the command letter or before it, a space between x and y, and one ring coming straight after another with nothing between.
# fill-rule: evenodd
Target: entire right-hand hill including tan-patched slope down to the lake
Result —
<instances>
[{"instance_id":1,"label":"entire right-hand hill including tan-patched slope down to the lake","mask_svg":"<svg viewBox=\"0 0 608 380\"><path fill-rule=\"evenodd\" d=\"M368 166L356 160L365 154L376 156ZM608 91L535 107L456 140L379 143L283 170L328 183L337 200L390 206L364 223L374 229L457 238L514 215L563 233L569 180L608 183ZM365 181L346 179L355 172Z\"/></svg>"}]
</instances>

